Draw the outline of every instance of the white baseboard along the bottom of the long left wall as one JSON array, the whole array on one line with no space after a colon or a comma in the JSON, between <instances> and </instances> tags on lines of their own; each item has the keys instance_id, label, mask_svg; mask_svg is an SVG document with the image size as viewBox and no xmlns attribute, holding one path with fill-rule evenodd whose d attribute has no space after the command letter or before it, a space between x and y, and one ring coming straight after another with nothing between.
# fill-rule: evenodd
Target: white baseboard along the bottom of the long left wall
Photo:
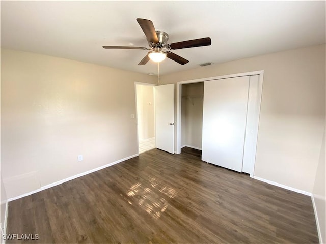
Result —
<instances>
[{"instance_id":1,"label":"white baseboard along the bottom of the long left wall","mask_svg":"<svg viewBox=\"0 0 326 244\"><path fill-rule=\"evenodd\" d=\"M76 175L74 175L74 176L71 176L71 177L68 177L68 178L65 178L65 179L59 180L59 181L57 181L57 182L53 182L53 183L48 184L48 185L46 185L46 186L43 186L43 187L41 187L41 188L39 188L39 189L37 189L37 190L31 191L31 192L28 192L28 193L24 193L24 194L19 195L19 196L17 196L17 197L9 198L9 199L8 199L8 202L11 202L11 201L13 201L13 200L16 200L16 199L19 199L19 198L22 198L22 197L26 197L26 196L32 195L32 194L34 194L34 193L37 193L37 192L40 192L40 191L46 190L46 189L51 188L51 187L58 186L58 185L63 184L63 183L65 183L65 182L67 182L67 181L70 181L70 180L72 180L72 179L82 177L82 176L84 176L84 175L87 175L87 174L93 173L93 172L95 172L95 171L98 171L98 170L101 170L101 169L104 169L104 168L110 167L110 166L112 166L112 165L115 165L115 164L121 163L121 162L123 162L123 161L126 161L126 160L128 160L128 159L131 159L131 158L134 158L134 157L137 157L137 156L139 156L139 154L134 154L134 155L132 155L132 156L126 157L126 158L124 158L124 159L117 160L117 161L112 162L112 163L110 163L110 164L105 164L105 165L100 166L100 167L97 167L97 168L95 168L95 169L91 169L91 170L88 170L88 171L86 171L86 172L83 172L83 173L80 173L80 174L76 174Z\"/></svg>"}]
</instances>

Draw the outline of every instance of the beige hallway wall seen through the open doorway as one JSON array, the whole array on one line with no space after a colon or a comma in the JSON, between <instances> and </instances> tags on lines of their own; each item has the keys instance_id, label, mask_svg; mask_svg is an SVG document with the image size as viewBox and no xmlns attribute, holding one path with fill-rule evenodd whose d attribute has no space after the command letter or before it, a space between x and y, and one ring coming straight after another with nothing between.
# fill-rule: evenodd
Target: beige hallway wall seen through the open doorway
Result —
<instances>
[{"instance_id":1,"label":"beige hallway wall seen through the open doorway","mask_svg":"<svg viewBox=\"0 0 326 244\"><path fill-rule=\"evenodd\" d=\"M138 137L140 140L153 138L154 132L154 89L149 85L136 85Z\"/></svg>"}]
</instances>

